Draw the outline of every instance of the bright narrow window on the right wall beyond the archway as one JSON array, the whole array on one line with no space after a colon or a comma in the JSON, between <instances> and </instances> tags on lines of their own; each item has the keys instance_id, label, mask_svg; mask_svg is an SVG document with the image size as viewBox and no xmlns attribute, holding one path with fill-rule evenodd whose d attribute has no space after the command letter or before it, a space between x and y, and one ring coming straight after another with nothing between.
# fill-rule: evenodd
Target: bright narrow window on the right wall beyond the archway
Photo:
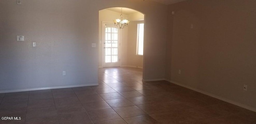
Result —
<instances>
[{"instance_id":1,"label":"bright narrow window on the right wall beyond the archway","mask_svg":"<svg viewBox=\"0 0 256 124\"><path fill-rule=\"evenodd\" d=\"M137 29L137 55L143 55L143 43L144 43L144 23L138 24Z\"/></svg>"}]
</instances>

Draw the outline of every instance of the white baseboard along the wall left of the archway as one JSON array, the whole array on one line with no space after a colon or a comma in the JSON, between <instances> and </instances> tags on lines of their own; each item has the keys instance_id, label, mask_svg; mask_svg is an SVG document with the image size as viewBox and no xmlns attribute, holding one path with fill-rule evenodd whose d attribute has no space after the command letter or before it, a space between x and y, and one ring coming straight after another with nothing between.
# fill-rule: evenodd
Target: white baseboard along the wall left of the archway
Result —
<instances>
[{"instance_id":1,"label":"white baseboard along the wall left of the archway","mask_svg":"<svg viewBox=\"0 0 256 124\"><path fill-rule=\"evenodd\" d=\"M86 85L69 85L69 86L58 86L58 87L42 87L42 88L31 88L31 89L18 89L18 90L7 90L0 91L0 93L13 93L22 91L38 91L38 90L48 90L48 89L61 89L61 88L72 88L72 87L86 87L86 86L97 86L97 84L86 84Z\"/></svg>"}]
</instances>

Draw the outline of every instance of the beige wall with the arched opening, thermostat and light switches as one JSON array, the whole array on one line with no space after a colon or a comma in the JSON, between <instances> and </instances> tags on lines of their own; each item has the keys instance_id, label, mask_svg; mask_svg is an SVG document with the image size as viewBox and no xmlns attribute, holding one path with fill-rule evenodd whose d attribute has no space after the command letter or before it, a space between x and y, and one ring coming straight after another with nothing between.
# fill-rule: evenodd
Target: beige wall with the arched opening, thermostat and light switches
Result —
<instances>
[{"instance_id":1,"label":"beige wall with the arched opening, thermostat and light switches","mask_svg":"<svg viewBox=\"0 0 256 124\"><path fill-rule=\"evenodd\" d=\"M164 78L167 28L158 20L167 19L166 5L148 0L16 2L0 0L0 92L98 85L99 10L111 7L146 15L143 78ZM17 35L25 41L16 41Z\"/></svg>"}]
</instances>

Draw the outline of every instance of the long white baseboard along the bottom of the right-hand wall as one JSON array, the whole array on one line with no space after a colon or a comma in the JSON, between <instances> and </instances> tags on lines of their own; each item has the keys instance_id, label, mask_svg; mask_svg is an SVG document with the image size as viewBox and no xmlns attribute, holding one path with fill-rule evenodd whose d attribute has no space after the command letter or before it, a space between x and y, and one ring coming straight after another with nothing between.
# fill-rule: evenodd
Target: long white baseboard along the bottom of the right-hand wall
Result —
<instances>
[{"instance_id":1,"label":"long white baseboard along the bottom of the right-hand wall","mask_svg":"<svg viewBox=\"0 0 256 124\"><path fill-rule=\"evenodd\" d=\"M217 95L214 95L214 94L205 92L205 91L201 91L201 90L196 89L196 88L194 88L194 87L190 87L190 86L187 86L187 85L178 83L178 82L176 82L176 81L170 81L170 80L168 80L168 79L165 79L165 80L168 81L168 82L170 82L170 83L174 83L174 84L176 84L176 85L179 85L179 86L181 86L181 87L186 87L186 88L188 88L188 89L190 89L190 90L193 90L193 91L196 91L196 92L199 92L199 93L202 93L202 94L206 94L207 96L211 96L211 97L213 97L213 98L217 98L217 99L219 99L219 100L222 100L222 101L225 101L225 102L234 104L234 105L236 105L236 106L240 106L240 107L242 107L242 108L246 108L246 109L248 109L248 110L251 110L251 111L256 112L256 108L253 108L253 107L251 107L251 106L247 106L247 105L241 104L241 103L239 103L239 102L235 102L235 101L233 101L233 100L229 100L229 99L227 99L227 98L223 98L223 97L221 97L221 96L217 96Z\"/></svg>"}]
</instances>

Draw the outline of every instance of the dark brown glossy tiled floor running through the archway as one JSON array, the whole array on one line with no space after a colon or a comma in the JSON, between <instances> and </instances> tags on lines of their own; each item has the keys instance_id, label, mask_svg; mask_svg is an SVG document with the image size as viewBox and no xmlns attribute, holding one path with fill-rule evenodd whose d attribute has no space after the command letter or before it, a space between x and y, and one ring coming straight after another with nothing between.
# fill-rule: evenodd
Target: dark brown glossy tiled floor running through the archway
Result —
<instances>
[{"instance_id":1,"label":"dark brown glossy tiled floor running through the archway","mask_svg":"<svg viewBox=\"0 0 256 124\"><path fill-rule=\"evenodd\" d=\"M99 69L98 86L0 94L0 124L256 124L256 112L166 81L142 69Z\"/></svg>"}]
</instances>

